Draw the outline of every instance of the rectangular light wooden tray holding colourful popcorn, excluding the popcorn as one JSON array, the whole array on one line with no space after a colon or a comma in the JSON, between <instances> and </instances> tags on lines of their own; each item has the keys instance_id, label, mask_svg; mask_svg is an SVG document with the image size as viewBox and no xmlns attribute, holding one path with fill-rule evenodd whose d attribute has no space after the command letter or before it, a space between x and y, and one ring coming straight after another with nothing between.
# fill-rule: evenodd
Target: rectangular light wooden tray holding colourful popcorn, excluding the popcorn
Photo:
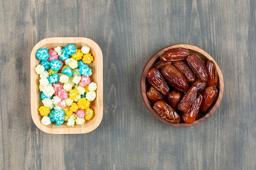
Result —
<instances>
[{"instance_id":1,"label":"rectangular light wooden tray holding colourful popcorn, excluding the popcorn","mask_svg":"<svg viewBox=\"0 0 256 170\"><path fill-rule=\"evenodd\" d=\"M94 110L94 116L89 121L85 120L83 125L74 125L73 127L67 126L67 122L57 126L56 123L52 123L48 126L41 124L42 116L38 112L38 108L43 106L40 98L39 75L36 74L35 68L40 64L40 60L36 58L36 51L40 48L54 49L56 46L67 46L68 44L74 44L77 49L81 49L82 46L89 46L90 53L94 57L94 61L88 64L92 68L92 75L90 79L92 82L97 83L97 90L94 101L91 102L90 108ZM98 44L93 40L82 37L57 37L46 38L38 42L31 51L30 58L30 93L31 93L31 116L36 126L47 133L51 134L81 134L88 133L99 126L103 117L103 62L102 52Z\"/></svg>"}]
</instances>

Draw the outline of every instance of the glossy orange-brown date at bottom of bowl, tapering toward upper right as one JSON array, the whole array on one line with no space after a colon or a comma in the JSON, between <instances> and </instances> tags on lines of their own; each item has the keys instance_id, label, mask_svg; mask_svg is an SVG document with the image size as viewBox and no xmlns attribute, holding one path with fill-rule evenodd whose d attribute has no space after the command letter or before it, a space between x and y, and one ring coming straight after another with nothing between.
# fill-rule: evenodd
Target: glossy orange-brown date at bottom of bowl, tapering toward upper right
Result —
<instances>
[{"instance_id":1,"label":"glossy orange-brown date at bottom of bowl, tapering toward upper right","mask_svg":"<svg viewBox=\"0 0 256 170\"><path fill-rule=\"evenodd\" d=\"M189 108L189 110L186 113L182 113L181 118L186 124L192 124L195 121L199 112L202 99L203 96L200 93L198 93L195 102L192 104L191 108Z\"/></svg>"}]
</instances>

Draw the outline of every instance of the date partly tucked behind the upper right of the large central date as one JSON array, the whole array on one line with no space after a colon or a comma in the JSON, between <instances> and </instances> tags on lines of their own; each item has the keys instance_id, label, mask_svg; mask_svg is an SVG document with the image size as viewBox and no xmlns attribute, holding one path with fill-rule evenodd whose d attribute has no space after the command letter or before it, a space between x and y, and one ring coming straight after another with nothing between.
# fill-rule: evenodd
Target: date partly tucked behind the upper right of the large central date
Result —
<instances>
[{"instance_id":1,"label":"date partly tucked behind the upper right of the large central date","mask_svg":"<svg viewBox=\"0 0 256 170\"><path fill-rule=\"evenodd\" d=\"M188 82L195 81L195 73L185 61L175 61L173 62L173 66L175 66L186 77Z\"/></svg>"}]
</instances>

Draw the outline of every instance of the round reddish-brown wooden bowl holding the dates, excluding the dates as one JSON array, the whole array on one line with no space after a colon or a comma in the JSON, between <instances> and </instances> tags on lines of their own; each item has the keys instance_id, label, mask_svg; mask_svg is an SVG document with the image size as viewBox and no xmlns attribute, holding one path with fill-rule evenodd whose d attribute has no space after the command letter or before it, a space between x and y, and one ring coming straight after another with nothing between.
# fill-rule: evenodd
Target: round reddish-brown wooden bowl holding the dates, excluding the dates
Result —
<instances>
[{"instance_id":1,"label":"round reddish-brown wooden bowl holding the dates, excluding the dates","mask_svg":"<svg viewBox=\"0 0 256 170\"><path fill-rule=\"evenodd\" d=\"M216 69L217 69L218 75L219 75L219 82L218 82L218 86L217 86L218 95L216 97L216 100L213 102L213 104L211 105L211 108L209 108L207 113L198 113L198 116L196 117L195 121L192 124L186 124L182 120L180 121L179 124L172 124L172 123L166 121L165 119L160 117L157 113L155 113L155 111L153 110L154 103L151 102L148 99L147 95L146 95L146 93L149 90L150 86L152 86L148 82L148 80L147 80L147 77L146 77L147 72L151 68L153 68L153 66L157 62L159 62L159 56L164 51L167 51L169 49L174 49L174 48L186 48L186 49L189 50L189 54L195 53L204 61L212 60L215 63L215 65L216 65ZM141 97L143 99L144 104L146 105L146 107L148 108L150 113L152 113L152 115L154 115L160 121L162 121L162 122L164 122L164 123L166 123L168 125L176 126L176 127L194 126L196 124L200 124L201 122L203 122L206 119L208 119L211 115L213 115L213 113L216 111L216 109L220 105L220 102L221 102L221 99L222 99L222 96L223 96L223 91L224 91L223 75L222 75L222 72L221 72L220 67L218 66L218 64L215 62L213 57L211 57L211 55L209 55L207 52L205 52L204 50L198 48L197 46L193 46L193 45L189 45L189 44L177 44L177 45L167 46L166 48L159 50L157 53L152 55L150 57L150 59L146 62L145 66L144 66L144 68L142 70L142 74L141 74L141 78L140 78L140 91L141 91Z\"/></svg>"}]
</instances>

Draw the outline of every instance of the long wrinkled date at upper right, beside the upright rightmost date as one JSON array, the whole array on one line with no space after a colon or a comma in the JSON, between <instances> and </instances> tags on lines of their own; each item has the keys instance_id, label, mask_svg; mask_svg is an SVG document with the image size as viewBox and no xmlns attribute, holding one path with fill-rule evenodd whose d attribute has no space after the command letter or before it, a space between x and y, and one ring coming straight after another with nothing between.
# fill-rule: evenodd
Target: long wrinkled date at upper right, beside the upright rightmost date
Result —
<instances>
[{"instance_id":1,"label":"long wrinkled date at upper right, beside the upright rightmost date","mask_svg":"<svg viewBox=\"0 0 256 170\"><path fill-rule=\"evenodd\" d=\"M186 58L186 61L189 63L189 66L192 68L192 70L195 72L201 82L207 82L207 70L201 58L193 53Z\"/></svg>"}]
</instances>

